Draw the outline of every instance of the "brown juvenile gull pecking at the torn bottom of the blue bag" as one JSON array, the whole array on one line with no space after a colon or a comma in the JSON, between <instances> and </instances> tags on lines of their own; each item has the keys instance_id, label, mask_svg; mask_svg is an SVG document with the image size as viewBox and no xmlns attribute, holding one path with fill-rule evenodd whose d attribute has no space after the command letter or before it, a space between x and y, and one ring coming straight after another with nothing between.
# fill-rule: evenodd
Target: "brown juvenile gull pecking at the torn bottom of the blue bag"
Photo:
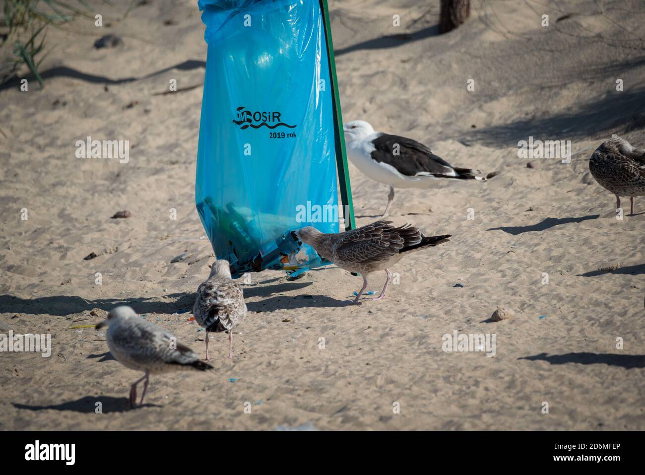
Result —
<instances>
[{"instance_id":1,"label":"brown juvenile gull pecking at the torn bottom of the blue bag","mask_svg":"<svg viewBox=\"0 0 645 475\"><path fill-rule=\"evenodd\" d=\"M419 229L410 224L395 228L392 221L377 221L350 231L337 234L324 234L312 226L292 232L294 239L303 241L328 261L349 272L359 272L363 286L353 303L357 303L367 287L367 278L371 272L385 270L388 277L381 294L370 300L381 300L385 297L392 277L389 267L399 262L406 253L426 246L445 243L450 234L442 236L424 236Z\"/></svg>"}]
</instances>

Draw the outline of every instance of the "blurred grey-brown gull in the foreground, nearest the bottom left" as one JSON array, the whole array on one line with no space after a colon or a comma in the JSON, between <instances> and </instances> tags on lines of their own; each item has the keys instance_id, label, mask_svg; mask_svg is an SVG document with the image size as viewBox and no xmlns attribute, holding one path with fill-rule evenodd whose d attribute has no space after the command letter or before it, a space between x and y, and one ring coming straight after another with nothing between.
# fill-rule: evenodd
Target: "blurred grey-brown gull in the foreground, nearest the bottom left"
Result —
<instances>
[{"instance_id":1,"label":"blurred grey-brown gull in the foreground, nearest the bottom left","mask_svg":"<svg viewBox=\"0 0 645 475\"><path fill-rule=\"evenodd\" d=\"M193 350L177 343L172 333L139 318L127 305L113 308L95 328L103 327L109 327L105 336L112 356L126 368L145 372L130 387L131 407L134 407L137 399L137 384L145 379L139 402L139 405L143 404L150 374L181 369L213 369L211 365L199 361Z\"/></svg>"}]
</instances>

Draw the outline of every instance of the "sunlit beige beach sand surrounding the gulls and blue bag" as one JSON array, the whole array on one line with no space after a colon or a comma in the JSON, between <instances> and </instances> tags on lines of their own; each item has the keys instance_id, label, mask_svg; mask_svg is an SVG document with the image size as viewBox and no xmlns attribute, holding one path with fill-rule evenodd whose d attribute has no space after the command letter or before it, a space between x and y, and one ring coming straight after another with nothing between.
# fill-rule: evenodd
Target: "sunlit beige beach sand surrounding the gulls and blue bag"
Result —
<instances>
[{"instance_id":1,"label":"sunlit beige beach sand surrounding the gulls and blue bag","mask_svg":"<svg viewBox=\"0 0 645 475\"><path fill-rule=\"evenodd\" d=\"M104 332L71 327L127 303L203 353L190 308L214 256L194 205L199 12L155 0L123 19L127 3L101 3L110 27L50 32L44 90L0 86L0 331L53 345L50 358L0 354L0 429L645 429L645 199L615 219L588 170L612 133L645 146L642 3L473 1L439 36L439 1L332 1L345 121L499 176L397 190L393 221L453 238L392 268L382 301L346 305L361 279L333 266L252 274L234 358L216 335L212 372L154 376L135 410L141 374L110 358ZM124 45L96 50L107 33ZM155 95L170 79L188 90ZM86 136L130 140L130 162L77 159ZM521 159L529 136L581 152ZM369 223L388 188L350 172ZM497 307L514 316L489 321ZM495 334L495 356L444 352L455 330Z\"/></svg>"}]
</instances>

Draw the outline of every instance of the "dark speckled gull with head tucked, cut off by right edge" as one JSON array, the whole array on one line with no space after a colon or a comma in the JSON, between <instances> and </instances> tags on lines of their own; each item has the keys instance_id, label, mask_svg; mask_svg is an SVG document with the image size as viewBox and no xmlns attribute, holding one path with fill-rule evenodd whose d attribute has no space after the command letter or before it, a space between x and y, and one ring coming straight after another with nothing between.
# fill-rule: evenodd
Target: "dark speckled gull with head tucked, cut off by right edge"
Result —
<instances>
[{"instance_id":1,"label":"dark speckled gull with head tucked, cut off by right edge","mask_svg":"<svg viewBox=\"0 0 645 475\"><path fill-rule=\"evenodd\" d=\"M589 170L601 187L616 195L616 208L621 196L629 196L634 214L634 197L645 196L645 148L613 135L591 154Z\"/></svg>"}]
</instances>

